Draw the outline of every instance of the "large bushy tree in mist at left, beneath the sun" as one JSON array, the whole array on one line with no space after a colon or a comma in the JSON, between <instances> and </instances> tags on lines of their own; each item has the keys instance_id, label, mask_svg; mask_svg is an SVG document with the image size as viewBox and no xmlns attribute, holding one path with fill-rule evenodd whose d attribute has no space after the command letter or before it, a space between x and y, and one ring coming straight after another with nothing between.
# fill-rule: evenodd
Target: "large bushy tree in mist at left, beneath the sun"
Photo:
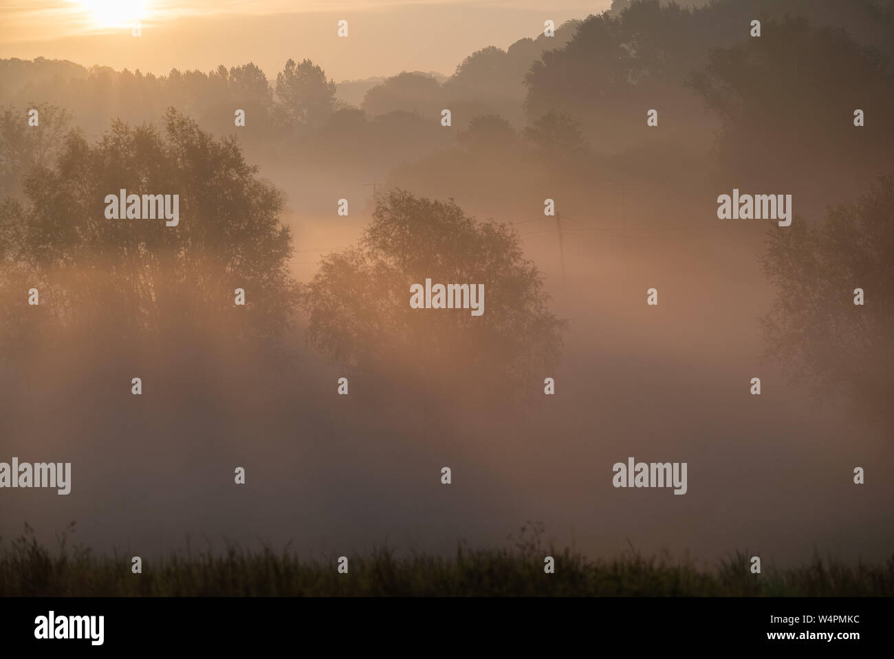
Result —
<instances>
[{"instance_id":1,"label":"large bushy tree in mist at left, beneath the sun","mask_svg":"<svg viewBox=\"0 0 894 659\"><path fill-rule=\"evenodd\" d=\"M282 336L295 301L291 234L279 221L281 193L256 172L234 139L215 140L173 109L164 136L121 122L92 145L70 132L55 163L27 177L27 202L0 206L2 343L51 328L194 345L223 332ZM180 223L107 219L105 196L122 189L179 195ZM45 325L21 321L30 287Z\"/></svg>"}]
</instances>

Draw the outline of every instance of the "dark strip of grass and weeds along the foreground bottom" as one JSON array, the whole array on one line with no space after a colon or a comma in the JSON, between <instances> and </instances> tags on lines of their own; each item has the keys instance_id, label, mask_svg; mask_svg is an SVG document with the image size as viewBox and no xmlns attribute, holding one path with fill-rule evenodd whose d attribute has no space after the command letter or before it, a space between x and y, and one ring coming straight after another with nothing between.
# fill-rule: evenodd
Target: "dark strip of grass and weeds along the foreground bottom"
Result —
<instances>
[{"instance_id":1,"label":"dark strip of grass and weeds along the foreground bottom","mask_svg":"<svg viewBox=\"0 0 894 659\"><path fill-rule=\"evenodd\" d=\"M503 549L469 549L451 557L398 557L383 547L349 556L299 560L288 549L230 546L223 553L172 553L131 573L130 555L97 556L70 545L72 527L54 551L26 525L0 540L0 596L890 596L894 556L881 564L848 565L815 557L809 565L751 574L748 553L713 567L671 556L643 556L632 547L616 558L591 560L568 548L540 546L542 528L526 526ZM555 573L544 573L544 556Z\"/></svg>"}]
</instances>

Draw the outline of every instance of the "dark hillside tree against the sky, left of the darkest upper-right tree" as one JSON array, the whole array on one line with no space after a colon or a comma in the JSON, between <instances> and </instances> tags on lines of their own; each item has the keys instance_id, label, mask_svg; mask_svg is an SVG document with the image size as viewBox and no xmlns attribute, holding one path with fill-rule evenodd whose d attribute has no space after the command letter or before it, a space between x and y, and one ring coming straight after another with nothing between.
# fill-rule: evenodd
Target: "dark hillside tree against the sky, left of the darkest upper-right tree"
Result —
<instances>
[{"instance_id":1,"label":"dark hillside tree against the sky, left of the darkest upper-right tree","mask_svg":"<svg viewBox=\"0 0 894 659\"><path fill-rule=\"evenodd\" d=\"M681 82L704 59L707 31L686 10L657 1L635 3L622 18L588 17L566 46L545 51L525 75L528 122L567 114L603 151L650 139L641 130L650 107L672 114L674 126L701 123L698 98Z\"/></svg>"}]
</instances>

